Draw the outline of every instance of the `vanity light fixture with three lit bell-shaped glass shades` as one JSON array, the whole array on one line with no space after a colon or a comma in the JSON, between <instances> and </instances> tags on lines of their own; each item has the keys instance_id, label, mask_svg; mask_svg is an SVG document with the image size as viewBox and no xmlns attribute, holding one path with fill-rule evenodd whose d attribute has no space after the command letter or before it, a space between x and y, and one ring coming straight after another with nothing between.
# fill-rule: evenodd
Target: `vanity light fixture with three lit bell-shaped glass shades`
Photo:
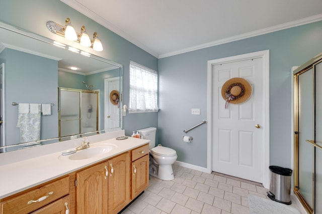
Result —
<instances>
[{"instance_id":1,"label":"vanity light fixture with three lit bell-shaped glass shades","mask_svg":"<svg viewBox=\"0 0 322 214\"><path fill-rule=\"evenodd\" d=\"M65 26L48 21L46 27L51 33L65 37L67 40L78 42L84 47L91 47L95 51L103 51L103 46L101 40L98 38L97 32L94 33L93 40L87 34L85 26L82 26L81 33L77 33L72 27L69 18L66 18Z\"/></svg>"}]
</instances>

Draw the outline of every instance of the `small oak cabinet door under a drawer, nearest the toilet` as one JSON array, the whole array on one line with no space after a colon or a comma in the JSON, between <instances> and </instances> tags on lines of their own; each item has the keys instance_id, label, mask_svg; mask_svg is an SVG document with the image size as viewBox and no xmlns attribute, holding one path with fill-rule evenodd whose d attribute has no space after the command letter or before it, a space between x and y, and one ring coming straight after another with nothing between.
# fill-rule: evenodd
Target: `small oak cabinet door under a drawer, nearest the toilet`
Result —
<instances>
[{"instance_id":1,"label":"small oak cabinet door under a drawer, nearest the toilet","mask_svg":"<svg viewBox=\"0 0 322 214\"><path fill-rule=\"evenodd\" d=\"M132 162L132 200L149 185L149 155Z\"/></svg>"}]
</instances>

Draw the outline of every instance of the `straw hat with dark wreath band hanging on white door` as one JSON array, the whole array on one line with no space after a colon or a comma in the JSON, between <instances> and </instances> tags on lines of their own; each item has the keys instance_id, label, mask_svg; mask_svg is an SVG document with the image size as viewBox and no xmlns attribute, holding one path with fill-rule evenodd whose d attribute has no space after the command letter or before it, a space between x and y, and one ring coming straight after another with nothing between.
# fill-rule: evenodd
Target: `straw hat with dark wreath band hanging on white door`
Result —
<instances>
[{"instance_id":1,"label":"straw hat with dark wreath band hanging on white door","mask_svg":"<svg viewBox=\"0 0 322 214\"><path fill-rule=\"evenodd\" d=\"M244 78L231 78L221 88L221 96L226 101L225 109L229 103L240 104L248 101L252 96L252 85Z\"/></svg>"}]
</instances>

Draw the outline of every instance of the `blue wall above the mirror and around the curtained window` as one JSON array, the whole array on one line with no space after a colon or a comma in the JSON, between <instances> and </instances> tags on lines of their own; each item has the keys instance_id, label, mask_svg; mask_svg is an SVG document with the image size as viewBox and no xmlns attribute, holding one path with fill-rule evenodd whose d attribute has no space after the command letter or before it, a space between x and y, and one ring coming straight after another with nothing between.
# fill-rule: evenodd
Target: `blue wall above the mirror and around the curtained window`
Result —
<instances>
[{"instance_id":1,"label":"blue wall above the mirror and around the curtained window","mask_svg":"<svg viewBox=\"0 0 322 214\"><path fill-rule=\"evenodd\" d=\"M98 33L104 51L93 51L92 54L123 65L123 103L128 105L130 60L157 71L155 57L59 0L0 1L0 21L51 39L57 36L47 30L46 22L51 20L64 24L67 17L75 28L79 28L77 32L85 25L88 33ZM133 130L149 126L157 127L157 113L127 114L123 117L123 128L127 135Z\"/></svg>"}]
</instances>

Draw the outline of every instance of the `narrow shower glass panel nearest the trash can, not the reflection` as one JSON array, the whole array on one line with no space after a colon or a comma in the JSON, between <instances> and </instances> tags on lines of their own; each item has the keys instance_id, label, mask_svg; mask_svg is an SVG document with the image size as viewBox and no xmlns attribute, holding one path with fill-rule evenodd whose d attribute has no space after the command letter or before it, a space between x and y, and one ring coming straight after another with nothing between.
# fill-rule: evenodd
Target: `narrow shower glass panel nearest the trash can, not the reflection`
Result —
<instances>
[{"instance_id":1,"label":"narrow shower glass panel nearest the trash can, not the reflection","mask_svg":"<svg viewBox=\"0 0 322 214\"><path fill-rule=\"evenodd\" d=\"M313 69L298 76L298 186L299 192L313 208L313 146L305 140L314 139Z\"/></svg>"}]
</instances>

